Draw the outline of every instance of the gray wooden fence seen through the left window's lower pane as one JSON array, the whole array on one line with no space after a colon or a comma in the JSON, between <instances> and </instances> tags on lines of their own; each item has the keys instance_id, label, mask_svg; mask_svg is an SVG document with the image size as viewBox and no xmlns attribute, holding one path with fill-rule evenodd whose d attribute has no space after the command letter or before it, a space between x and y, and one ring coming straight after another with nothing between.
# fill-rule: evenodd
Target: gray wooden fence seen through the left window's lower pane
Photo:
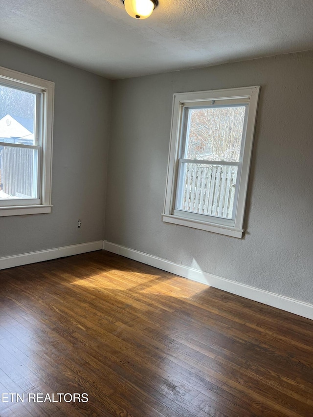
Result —
<instances>
[{"instance_id":1,"label":"gray wooden fence seen through the left window's lower pane","mask_svg":"<svg viewBox=\"0 0 313 417\"><path fill-rule=\"evenodd\" d=\"M1 150L1 183L9 196L32 196L34 151L3 146Z\"/></svg>"}]
</instances>

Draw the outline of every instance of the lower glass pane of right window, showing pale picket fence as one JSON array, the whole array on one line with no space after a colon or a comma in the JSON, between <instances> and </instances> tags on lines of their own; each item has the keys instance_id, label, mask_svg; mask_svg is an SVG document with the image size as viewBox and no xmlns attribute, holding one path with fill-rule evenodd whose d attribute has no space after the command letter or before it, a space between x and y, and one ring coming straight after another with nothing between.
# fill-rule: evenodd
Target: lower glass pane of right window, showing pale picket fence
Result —
<instances>
[{"instance_id":1,"label":"lower glass pane of right window, showing pale picket fence","mask_svg":"<svg viewBox=\"0 0 313 417\"><path fill-rule=\"evenodd\" d=\"M232 218L237 166L182 163L179 210Z\"/></svg>"}]
</instances>

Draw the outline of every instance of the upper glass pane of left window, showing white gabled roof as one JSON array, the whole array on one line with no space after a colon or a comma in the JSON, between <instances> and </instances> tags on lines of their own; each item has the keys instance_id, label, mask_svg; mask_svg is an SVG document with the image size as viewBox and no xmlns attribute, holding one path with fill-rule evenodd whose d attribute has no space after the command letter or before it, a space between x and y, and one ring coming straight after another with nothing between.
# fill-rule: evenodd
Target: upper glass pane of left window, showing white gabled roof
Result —
<instances>
[{"instance_id":1,"label":"upper glass pane of left window, showing white gabled roof","mask_svg":"<svg viewBox=\"0 0 313 417\"><path fill-rule=\"evenodd\" d=\"M0 86L0 142L34 145L36 94Z\"/></svg>"}]
</instances>

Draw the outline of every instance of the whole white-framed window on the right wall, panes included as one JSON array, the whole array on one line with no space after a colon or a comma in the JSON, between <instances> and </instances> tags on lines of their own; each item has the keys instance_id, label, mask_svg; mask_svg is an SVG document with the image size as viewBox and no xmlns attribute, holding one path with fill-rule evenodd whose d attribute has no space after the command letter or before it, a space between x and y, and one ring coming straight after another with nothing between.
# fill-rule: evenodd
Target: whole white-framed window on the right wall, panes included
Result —
<instances>
[{"instance_id":1,"label":"whole white-framed window on the right wall, panes included","mask_svg":"<svg viewBox=\"0 0 313 417\"><path fill-rule=\"evenodd\" d=\"M174 94L163 221L242 238L259 89Z\"/></svg>"}]
</instances>

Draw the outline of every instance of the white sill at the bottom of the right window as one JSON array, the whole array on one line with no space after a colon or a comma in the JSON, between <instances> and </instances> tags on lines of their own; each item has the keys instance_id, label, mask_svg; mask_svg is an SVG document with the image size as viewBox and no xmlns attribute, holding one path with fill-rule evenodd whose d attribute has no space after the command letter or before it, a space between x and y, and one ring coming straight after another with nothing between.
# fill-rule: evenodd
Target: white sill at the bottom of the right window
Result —
<instances>
[{"instance_id":1,"label":"white sill at the bottom of the right window","mask_svg":"<svg viewBox=\"0 0 313 417\"><path fill-rule=\"evenodd\" d=\"M180 226L193 227L194 229L206 230L208 232L219 233L220 235L232 236L241 239L244 234L243 229L236 229L230 226L208 223L206 221L186 219L179 216L162 214L162 220L166 223L179 224Z\"/></svg>"}]
</instances>

